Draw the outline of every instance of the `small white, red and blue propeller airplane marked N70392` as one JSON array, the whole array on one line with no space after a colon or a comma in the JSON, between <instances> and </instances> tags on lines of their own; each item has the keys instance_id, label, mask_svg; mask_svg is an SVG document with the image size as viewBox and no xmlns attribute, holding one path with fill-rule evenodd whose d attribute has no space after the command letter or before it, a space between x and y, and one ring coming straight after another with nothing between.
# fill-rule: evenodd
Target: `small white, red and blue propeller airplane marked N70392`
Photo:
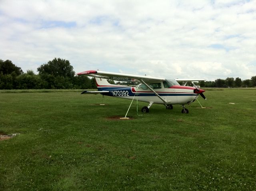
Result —
<instances>
[{"instance_id":1,"label":"small white, red and blue propeller airplane marked N70392","mask_svg":"<svg viewBox=\"0 0 256 191\"><path fill-rule=\"evenodd\" d=\"M98 88L98 91L84 91L81 94L102 94L125 99L134 99L134 96L137 96L138 101L149 103L148 106L142 107L141 111L144 113L149 112L153 103L164 104L166 109L172 109L172 105L180 104L183 106L181 112L188 113L185 104L194 102L199 95L206 99L203 94L205 91L197 88L193 83L205 81L205 79L165 79L98 70L88 70L77 73L77 75L95 77ZM110 84L107 80L140 82L140 84L136 87L120 86ZM178 82L184 82L185 84L180 86ZM194 87L186 86L188 82L191 82Z\"/></svg>"}]
</instances>

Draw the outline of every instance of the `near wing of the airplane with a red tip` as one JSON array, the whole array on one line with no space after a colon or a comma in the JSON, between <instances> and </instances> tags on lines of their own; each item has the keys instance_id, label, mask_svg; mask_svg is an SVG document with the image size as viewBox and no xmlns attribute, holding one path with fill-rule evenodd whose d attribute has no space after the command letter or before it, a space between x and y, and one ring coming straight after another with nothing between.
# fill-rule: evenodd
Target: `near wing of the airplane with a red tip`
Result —
<instances>
[{"instance_id":1,"label":"near wing of the airplane with a red tip","mask_svg":"<svg viewBox=\"0 0 256 191\"><path fill-rule=\"evenodd\" d=\"M121 74L121 73L114 73L114 72L103 72L103 71L96 71L96 70L88 70L84 72L77 73L77 75L86 75L92 76L96 78L104 78L107 80L116 80L122 82L162 82L164 78L155 78L149 76L138 76L138 75L131 75L131 74Z\"/></svg>"}]
</instances>

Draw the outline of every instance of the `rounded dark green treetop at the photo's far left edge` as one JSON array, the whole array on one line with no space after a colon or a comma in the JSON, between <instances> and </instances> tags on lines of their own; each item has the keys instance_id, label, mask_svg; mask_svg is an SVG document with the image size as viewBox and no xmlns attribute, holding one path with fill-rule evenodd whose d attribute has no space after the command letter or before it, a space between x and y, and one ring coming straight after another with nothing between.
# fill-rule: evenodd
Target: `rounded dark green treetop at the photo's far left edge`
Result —
<instances>
[{"instance_id":1,"label":"rounded dark green treetop at the photo's far left edge","mask_svg":"<svg viewBox=\"0 0 256 191\"><path fill-rule=\"evenodd\" d=\"M10 60L6 60L6 61L0 60L0 72L2 72L2 74L4 75L13 74L13 72L15 73L16 76L23 74L23 71L21 70L21 68L19 68L15 64L12 64L12 61Z\"/></svg>"}]
</instances>

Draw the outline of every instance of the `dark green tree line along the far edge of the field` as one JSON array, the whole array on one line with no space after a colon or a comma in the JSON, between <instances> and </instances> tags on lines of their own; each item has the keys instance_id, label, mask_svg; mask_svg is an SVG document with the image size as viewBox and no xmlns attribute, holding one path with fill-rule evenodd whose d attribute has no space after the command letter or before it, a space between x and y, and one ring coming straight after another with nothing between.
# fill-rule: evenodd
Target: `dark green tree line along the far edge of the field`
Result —
<instances>
[{"instance_id":1,"label":"dark green tree line along the far edge of the field","mask_svg":"<svg viewBox=\"0 0 256 191\"><path fill-rule=\"evenodd\" d=\"M27 70L24 73L12 61L0 60L0 90L96 88L93 78L75 75L69 60L54 58L39 66L37 72L38 74L35 74L33 70ZM252 76L248 80L229 77L226 80L217 79L215 81L199 82L198 85L205 88L250 88L256 87L256 76Z\"/></svg>"}]
</instances>

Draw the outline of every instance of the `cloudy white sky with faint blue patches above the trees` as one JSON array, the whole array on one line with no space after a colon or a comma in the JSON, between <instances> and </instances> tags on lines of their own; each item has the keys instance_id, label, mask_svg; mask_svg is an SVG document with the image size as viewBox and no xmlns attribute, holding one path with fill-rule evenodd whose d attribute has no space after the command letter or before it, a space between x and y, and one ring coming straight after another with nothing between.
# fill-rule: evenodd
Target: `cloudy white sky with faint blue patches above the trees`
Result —
<instances>
[{"instance_id":1,"label":"cloudy white sky with faint blue patches above the trees","mask_svg":"<svg viewBox=\"0 0 256 191\"><path fill-rule=\"evenodd\" d=\"M0 0L0 59L216 80L256 76L256 0Z\"/></svg>"}]
</instances>

